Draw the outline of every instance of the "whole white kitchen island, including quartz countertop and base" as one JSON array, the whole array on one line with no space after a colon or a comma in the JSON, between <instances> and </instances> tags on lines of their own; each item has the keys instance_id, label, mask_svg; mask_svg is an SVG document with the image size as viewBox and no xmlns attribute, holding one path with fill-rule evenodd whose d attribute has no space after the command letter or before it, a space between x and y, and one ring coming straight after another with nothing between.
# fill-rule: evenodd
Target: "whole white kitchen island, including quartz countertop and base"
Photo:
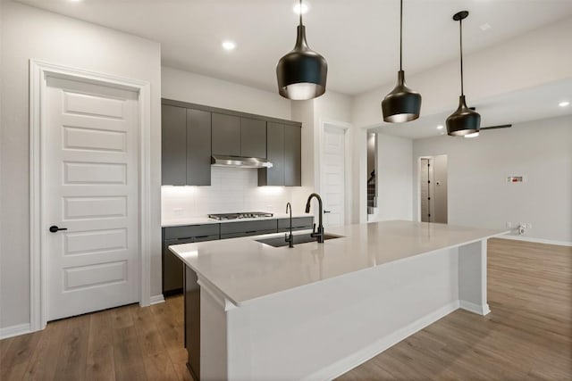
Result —
<instances>
[{"instance_id":1,"label":"whole white kitchen island, including quartz countertop and base","mask_svg":"<svg viewBox=\"0 0 572 381\"><path fill-rule=\"evenodd\" d=\"M330 379L458 308L489 312L486 240L505 231L385 221L327 232L340 237L170 246L200 286L185 295L200 379Z\"/></svg>"}]
</instances>

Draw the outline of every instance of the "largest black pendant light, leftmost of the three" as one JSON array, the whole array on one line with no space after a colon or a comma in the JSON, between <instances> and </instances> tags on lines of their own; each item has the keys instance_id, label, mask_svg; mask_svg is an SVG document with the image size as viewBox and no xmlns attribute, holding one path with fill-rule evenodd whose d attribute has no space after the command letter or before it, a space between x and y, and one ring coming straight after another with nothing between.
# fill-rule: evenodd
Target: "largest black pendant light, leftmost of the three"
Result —
<instances>
[{"instance_id":1,"label":"largest black pendant light, leftmost of the three","mask_svg":"<svg viewBox=\"0 0 572 381\"><path fill-rule=\"evenodd\" d=\"M296 46L276 65L278 93L292 100L306 100L325 93L328 63L307 46L306 27L302 24L302 0Z\"/></svg>"}]
</instances>

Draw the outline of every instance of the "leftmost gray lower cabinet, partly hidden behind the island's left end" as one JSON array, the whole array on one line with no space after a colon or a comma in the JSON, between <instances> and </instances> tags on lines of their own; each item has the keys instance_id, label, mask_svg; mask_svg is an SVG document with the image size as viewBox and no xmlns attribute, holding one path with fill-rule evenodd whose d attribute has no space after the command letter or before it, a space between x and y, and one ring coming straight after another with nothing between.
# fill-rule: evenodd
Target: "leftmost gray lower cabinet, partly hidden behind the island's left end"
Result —
<instances>
[{"instance_id":1,"label":"leftmost gray lower cabinet, partly hidden behind the island's left end","mask_svg":"<svg viewBox=\"0 0 572 381\"><path fill-rule=\"evenodd\" d=\"M220 238L219 224L163 228L163 294L179 294L183 290L183 263L169 250L172 244L214 241Z\"/></svg>"}]
</instances>

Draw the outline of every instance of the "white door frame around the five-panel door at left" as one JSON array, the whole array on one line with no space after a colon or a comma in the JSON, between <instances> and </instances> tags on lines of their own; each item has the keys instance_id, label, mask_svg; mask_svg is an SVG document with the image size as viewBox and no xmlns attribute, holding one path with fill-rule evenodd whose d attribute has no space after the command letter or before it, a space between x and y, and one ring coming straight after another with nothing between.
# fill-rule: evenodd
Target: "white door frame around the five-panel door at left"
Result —
<instances>
[{"instance_id":1,"label":"white door frame around the five-panel door at left","mask_svg":"<svg viewBox=\"0 0 572 381\"><path fill-rule=\"evenodd\" d=\"M29 318L30 331L46 327L46 79L59 77L136 92L139 106L139 305L150 304L151 84L49 62L29 61Z\"/></svg>"}]
</instances>

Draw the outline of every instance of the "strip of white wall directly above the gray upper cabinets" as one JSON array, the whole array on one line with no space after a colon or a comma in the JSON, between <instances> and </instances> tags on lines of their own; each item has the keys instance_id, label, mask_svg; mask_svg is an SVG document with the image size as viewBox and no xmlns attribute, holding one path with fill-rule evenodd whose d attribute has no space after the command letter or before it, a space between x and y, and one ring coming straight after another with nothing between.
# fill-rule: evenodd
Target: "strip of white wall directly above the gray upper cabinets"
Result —
<instances>
[{"instance_id":1,"label":"strip of white wall directly above the gray upper cabinets","mask_svg":"<svg viewBox=\"0 0 572 381\"><path fill-rule=\"evenodd\" d=\"M278 91L272 93L165 66L161 78L164 98L291 120L290 100Z\"/></svg>"}]
</instances>

